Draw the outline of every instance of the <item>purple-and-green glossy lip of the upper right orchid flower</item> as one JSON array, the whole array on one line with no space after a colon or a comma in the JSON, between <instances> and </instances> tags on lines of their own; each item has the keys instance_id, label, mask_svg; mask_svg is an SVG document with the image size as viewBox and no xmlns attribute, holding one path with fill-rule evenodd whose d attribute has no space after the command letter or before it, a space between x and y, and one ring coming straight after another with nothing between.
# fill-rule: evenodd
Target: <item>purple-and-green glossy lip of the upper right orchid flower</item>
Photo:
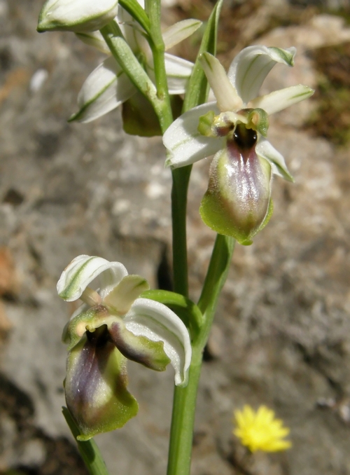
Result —
<instances>
[{"instance_id":1,"label":"purple-and-green glossy lip of the upper right orchid flower","mask_svg":"<svg viewBox=\"0 0 350 475\"><path fill-rule=\"evenodd\" d=\"M251 244L269 210L271 166L255 152L255 130L239 124L216 153L201 205L204 223L217 233Z\"/></svg>"}]
</instances>

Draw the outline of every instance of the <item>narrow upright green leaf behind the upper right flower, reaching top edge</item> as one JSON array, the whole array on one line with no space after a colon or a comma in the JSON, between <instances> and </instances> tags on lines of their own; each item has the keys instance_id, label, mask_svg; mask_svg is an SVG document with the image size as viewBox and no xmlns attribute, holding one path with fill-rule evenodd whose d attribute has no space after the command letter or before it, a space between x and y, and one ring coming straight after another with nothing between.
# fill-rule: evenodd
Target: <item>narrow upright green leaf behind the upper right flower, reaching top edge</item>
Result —
<instances>
[{"instance_id":1,"label":"narrow upright green leaf behind the upper right flower, reaching top edge","mask_svg":"<svg viewBox=\"0 0 350 475\"><path fill-rule=\"evenodd\" d=\"M207 51L212 55L216 53L216 39L218 36L218 19L220 16L221 6L223 5L223 0L219 0L216 6L214 6L213 11L207 22L207 26L204 30L202 43L200 50L197 55L197 60L195 66L193 67L193 73L190 76L188 81L188 87L185 95L185 102L183 104L183 112L192 109L195 106L203 104L208 95L208 81L207 76L205 76L202 66L200 64L200 55Z\"/></svg>"}]
</instances>

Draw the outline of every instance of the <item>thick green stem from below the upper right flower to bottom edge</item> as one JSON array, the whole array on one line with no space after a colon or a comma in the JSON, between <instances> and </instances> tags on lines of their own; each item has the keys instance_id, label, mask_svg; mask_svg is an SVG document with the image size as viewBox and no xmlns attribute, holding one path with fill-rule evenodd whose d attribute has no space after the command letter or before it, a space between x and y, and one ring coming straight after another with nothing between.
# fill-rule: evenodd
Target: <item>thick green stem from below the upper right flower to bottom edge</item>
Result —
<instances>
[{"instance_id":1,"label":"thick green stem from below the upper right flower to bottom edge","mask_svg":"<svg viewBox=\"0 0 350 475\"><path fill-rule=\"evenodd\" d=\"M218 298L228 276L235 240L218 234L214 245L207 277L198 306L204 315L204 324L193 342L193 356L186 387L175 387L170 432L167 475L189 475L192 452L193 427L198 383L202 368L202 354L213 323Z\"/></svg>"}]
</instances>

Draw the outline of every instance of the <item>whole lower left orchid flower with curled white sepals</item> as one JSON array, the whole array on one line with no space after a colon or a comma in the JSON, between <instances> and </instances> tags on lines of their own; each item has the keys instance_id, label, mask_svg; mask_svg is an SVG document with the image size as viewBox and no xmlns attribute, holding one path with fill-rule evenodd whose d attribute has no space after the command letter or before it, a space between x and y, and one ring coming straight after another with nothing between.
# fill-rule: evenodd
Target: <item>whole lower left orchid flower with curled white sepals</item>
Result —
<instances>
[{"instance_id":1,"label":"whole lower left orchid flower with curled white sepals","mask_svg":"<svg viewBox=\"0 0 350 475\"><path fill-rule=\"evenodd\" d=\"M101 287L95 291L89 285L97 277ZM127 391L127 359L155 371L171 363L175 384L187 384L188 330L162 303L139 298L148 288L139 275L128 275L123 264L85 255L73 259L57 283L65 301L84 302L63 333L69 345L66 404L80 440L122 427L136 415L137 401Z\"/></svg>"}]
</instances>

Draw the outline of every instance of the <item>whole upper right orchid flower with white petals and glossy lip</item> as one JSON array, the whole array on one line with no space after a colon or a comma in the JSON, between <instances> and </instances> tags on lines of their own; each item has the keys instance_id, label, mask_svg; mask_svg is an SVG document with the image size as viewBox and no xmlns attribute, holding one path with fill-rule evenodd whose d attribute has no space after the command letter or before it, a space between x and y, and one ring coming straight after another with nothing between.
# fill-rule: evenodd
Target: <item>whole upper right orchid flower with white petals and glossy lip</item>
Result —
<instances>
[{"instance_id":1,"label":"whole upper right orchid flower with white petals and glossy lip","mask_svg":"<svg viewBox=\"0 0 350 475\"><path fill-rule=\"evenodd\" d=\"M200 207L204 223L243 245L272 214L272 174L293 181L281 153L267 139L268 116L313 94L294 85L258 96L276 63L293 66L295 48L249 46L235 57L228 74L209 53L200 58L216 97L187 111L168 128L163 142L167 165L183 167L216 154Z\"/></svg>"}]
</instances>

